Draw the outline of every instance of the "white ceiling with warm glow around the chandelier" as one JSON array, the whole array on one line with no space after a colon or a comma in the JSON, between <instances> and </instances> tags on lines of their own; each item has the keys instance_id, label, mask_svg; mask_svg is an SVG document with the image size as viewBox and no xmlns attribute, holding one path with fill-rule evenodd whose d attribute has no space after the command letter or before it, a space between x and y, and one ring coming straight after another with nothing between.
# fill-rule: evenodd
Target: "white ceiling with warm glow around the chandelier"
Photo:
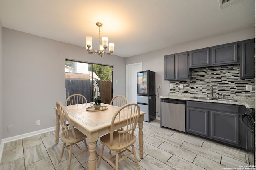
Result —
<instances>
[{"instance_id":1,"label":"white ceiling with warm glow around the chandelier","mask_svg":"<svg viewBox=\"0 0 256 170\"><path fill-rule=\"evenodd\" d=\"M2 27L85 48L85 36L130 57L254 26L254 0L220 9L218 0L0 0ZM96 48L95 48L96 49ZM86 51L85 51L86 52Z\"/></svg>"}]
</instances>

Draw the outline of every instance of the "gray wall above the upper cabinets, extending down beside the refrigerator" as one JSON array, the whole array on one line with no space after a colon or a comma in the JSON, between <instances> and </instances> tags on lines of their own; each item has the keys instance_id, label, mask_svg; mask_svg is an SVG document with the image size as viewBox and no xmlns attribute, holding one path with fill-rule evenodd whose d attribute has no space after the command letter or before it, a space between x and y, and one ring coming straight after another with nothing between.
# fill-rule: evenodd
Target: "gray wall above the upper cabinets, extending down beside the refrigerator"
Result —
<instances>
[{"instance_id":1,"label":"gray wall above the upper cabinets, extending down beside the refrigerator","mask_svg":"<svg viewBox=\"0 0 256 170\"><path fill-rule=\"evenodd\" d=\"M126 58L126 64L142 62L142 70L155 71L156 86L158 84L161 84L161 89L159 89L159 96L166 96L169 93L169 81L164 81L164 55L175 54L194 49L201 49L214 45L221 45L252 38L254 38L254 27L226 33L223 35L217 35L214 37L208 37L205 39L200 39L198 41L183 43L173 47L168 47L165 49L160 49L157 51L152 51L133 57L128 57ZM160 102L158 104L158 108L159 109L157 116L160 115Z\"/></svg>"}]
</instances>

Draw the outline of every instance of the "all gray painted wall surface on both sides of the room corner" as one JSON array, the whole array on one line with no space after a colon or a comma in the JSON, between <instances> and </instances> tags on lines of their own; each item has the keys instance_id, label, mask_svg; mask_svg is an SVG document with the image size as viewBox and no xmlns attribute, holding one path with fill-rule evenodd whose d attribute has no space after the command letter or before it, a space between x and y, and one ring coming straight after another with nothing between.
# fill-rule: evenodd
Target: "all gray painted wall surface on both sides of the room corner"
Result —
<instances>
[{"instance_id":1,"label":"all gray painted wall surface on both sides of the room corner","mask_svg":"<svg viewBox=\"0 0 256 170\"><path fill-rule=\"evenodd\" d=\"M163 96L169 92L169 81L164 81L164 55L251 38L254 38L254 27L122 58L88 55L82 47L2 28L0 89L2 86L3 90L0 93L3 94L0 106L3 109L0 109L0 120L3 122L0 139L55 125L55 103L65 101L65 59L114 66L114 82L118 80L118 84L114 84L114 95L124 96L125 64L142 62L143 70L156 72L156 85L162 85L159 96ZM40 126L36 126L36 120L41 121ZM14 126L12 132L7 133L8 125Z\"/></svg>"}]
</instances>

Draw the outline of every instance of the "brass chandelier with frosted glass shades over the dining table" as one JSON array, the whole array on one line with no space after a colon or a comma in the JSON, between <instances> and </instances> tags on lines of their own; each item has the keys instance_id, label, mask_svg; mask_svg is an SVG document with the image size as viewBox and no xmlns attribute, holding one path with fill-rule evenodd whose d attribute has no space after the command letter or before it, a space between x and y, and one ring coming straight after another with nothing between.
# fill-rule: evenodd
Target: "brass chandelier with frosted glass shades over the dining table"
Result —
<instances>
[{"instance_id":1,"label":"brass chandelier with frosted glass shades over the dining table","mask_svg":"<svg viewBox=\"0 0 256 170\"><path fill-rule=\"evenodd\" d=\"M86 36L85 41L86 41L86 50L88 51L88 54L98 54L101 57L102 55L105 55L105 54L112 55L112 53L114 52L115 44L114 43L108 44L108 37L102 37L102 45L100 45L100 27L102 27L103 24L101 22L97 22L96 25L99 27L99 39L98 39L99 47L98 47L98 50L92 49L92 37ZM110 53L106 52L106 48L109 49Z\"/></svg>"}]
</instances>

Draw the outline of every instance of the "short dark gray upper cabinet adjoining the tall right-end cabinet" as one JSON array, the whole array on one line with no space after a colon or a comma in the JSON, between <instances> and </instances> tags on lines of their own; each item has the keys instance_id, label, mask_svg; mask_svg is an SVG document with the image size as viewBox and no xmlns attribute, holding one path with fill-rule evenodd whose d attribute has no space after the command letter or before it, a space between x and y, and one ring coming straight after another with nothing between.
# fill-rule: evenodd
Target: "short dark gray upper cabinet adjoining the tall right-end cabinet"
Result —
<instances>
[{"instance_id":1,"label":"short dark gray upper cabinet adjoining the tall right-end cabinet","mask_svg":"<svg viewBox=\"0 0 256 170\"><path fill-rule=\"evenodd\" d=\"M239 64L238 43L230 43L212 47L212 65Z\"/></svg>"}]
</instances>

